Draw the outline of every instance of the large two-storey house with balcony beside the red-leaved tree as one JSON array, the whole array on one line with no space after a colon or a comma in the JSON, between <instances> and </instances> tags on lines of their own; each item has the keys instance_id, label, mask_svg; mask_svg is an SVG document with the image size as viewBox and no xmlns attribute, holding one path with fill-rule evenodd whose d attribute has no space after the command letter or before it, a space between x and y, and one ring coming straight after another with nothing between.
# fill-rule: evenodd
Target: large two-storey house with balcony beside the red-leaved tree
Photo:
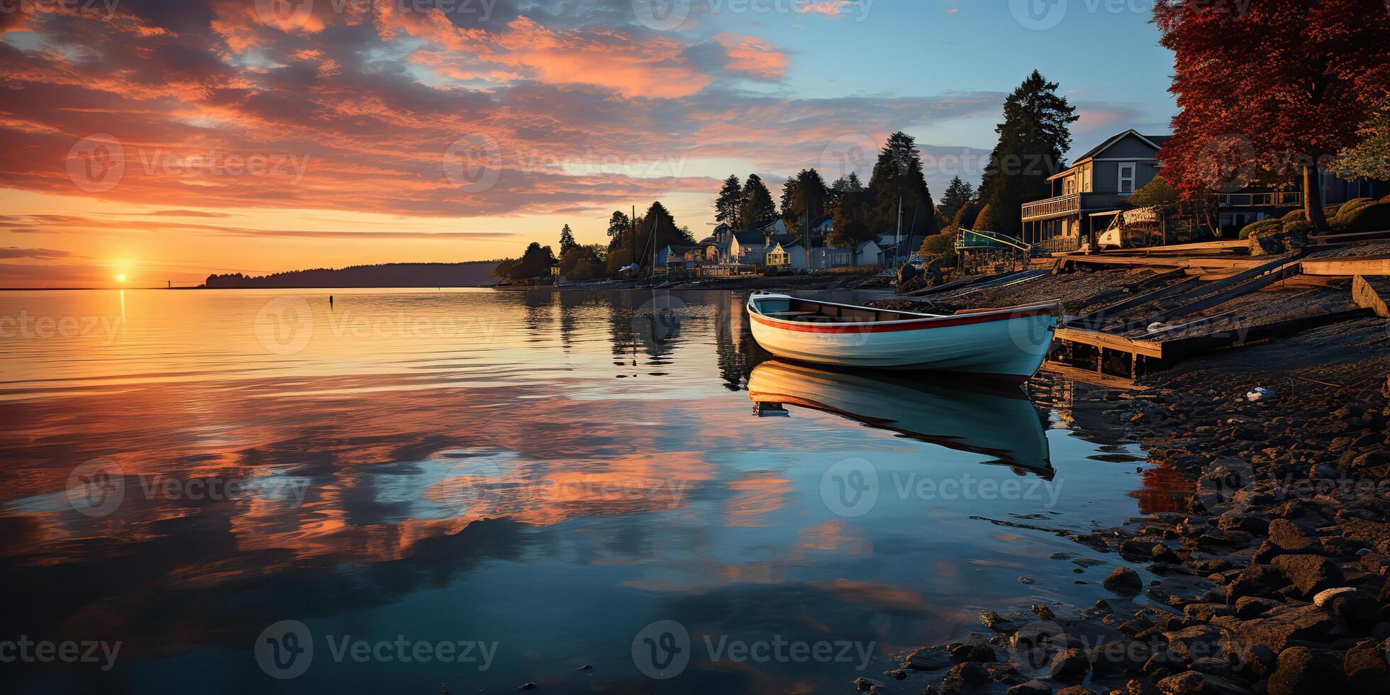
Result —
<instances>
[{"instance_id":1,"label":"large two-storey house with balcony beside the red-leaved tree","mask_svg":"<svg viewBox=\"0 0 1390 695\"><path fill-rule=\"evenodd\" d=\"M1131 128L1049 177L1051 196L1023 203L1023 240L1047 250L1073 250L1104 231L1123 200L1158 175L1156 153L1168 138Z\"/></svg>"}]
</instances>

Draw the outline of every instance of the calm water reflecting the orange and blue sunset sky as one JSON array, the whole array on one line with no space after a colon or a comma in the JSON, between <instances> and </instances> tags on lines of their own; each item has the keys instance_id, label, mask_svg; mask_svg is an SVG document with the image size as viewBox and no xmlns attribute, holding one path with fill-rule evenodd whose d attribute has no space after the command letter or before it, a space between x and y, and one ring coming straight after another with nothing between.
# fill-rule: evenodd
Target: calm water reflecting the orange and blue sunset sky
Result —
<instances>
[{"instance_id":1,"label":"calm water reflecting the orange and blue sunset sky","mask_svg":"<svg viewBox=\"0 0 1390 695\"><path fill-rule=\"evenodd\" d=\"M766 361L727 292L331 293L0 293L7 689L851 692L1138 510L1065 384Z\"/></svg>"}]
</instances>

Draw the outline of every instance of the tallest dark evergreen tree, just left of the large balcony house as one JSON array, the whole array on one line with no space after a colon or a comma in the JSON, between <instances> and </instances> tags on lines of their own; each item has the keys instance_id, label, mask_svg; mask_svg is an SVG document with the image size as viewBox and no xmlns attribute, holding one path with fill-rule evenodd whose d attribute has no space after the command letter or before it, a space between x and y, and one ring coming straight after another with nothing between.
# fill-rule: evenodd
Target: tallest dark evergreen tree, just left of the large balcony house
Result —
<instances>
[{"instance_id":1,"label":"tallest dark evergreen tree, just left of the large balcony house","mask_svg":"<svg viewBox=\"0 0 1390 695\"><path fill-rule=\"evenodd\" d=\"M1062 156L1072 149L1070 124L1080 117L1056 86L1034 70L1004 100L1004 122L994 129L999 142L980 182L980 200L994 210L995 232L1022 235L1023 203L1048 197L1047 179L1062 171Z\"/></svg>"}]
</instances>

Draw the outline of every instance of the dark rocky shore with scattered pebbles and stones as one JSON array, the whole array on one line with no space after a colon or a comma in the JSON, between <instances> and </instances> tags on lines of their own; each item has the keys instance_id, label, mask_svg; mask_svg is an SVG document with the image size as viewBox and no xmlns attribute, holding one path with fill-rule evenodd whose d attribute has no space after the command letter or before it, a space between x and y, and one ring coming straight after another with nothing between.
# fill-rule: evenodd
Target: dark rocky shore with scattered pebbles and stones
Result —
<instances>
[{"instance_id":1,"label":"dark rocky shore with scattered pebbles and stones","mask_svg":"<svg viewBox=\"0 0 1390 695\"><path fill-rule=\"evenodd\" d=\"M1390 692L1387 375L1390 325L1365 318L1145 377L1108 416L1145 450L1145 477L1180 481L1180 512L1072 535L1118 557L1095 605L987 610L967 639L855 685Z\"/></svg>"}]
</instances>

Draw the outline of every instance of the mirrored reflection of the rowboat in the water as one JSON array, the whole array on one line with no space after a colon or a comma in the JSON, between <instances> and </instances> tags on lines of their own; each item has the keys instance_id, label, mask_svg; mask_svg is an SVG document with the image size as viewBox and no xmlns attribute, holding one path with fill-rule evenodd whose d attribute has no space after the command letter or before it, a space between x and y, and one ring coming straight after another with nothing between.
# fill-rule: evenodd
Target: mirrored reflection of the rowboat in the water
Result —
<instances>
[{"instance_id":1,"label":"mirrored reflection of the rowboat in the water","mask_svg":"<svg viewBox=\"0 0 1390 695\"><path fill-rule=\"evenodd\" d=\"M1052 478L1047 435L1037 409L1013 384L923 384L905 375L867 375L769 360L748 377L755 413L794 404L891 430L915 439L983 453L1016 473Z\"/></svg>"}]
</instances>

